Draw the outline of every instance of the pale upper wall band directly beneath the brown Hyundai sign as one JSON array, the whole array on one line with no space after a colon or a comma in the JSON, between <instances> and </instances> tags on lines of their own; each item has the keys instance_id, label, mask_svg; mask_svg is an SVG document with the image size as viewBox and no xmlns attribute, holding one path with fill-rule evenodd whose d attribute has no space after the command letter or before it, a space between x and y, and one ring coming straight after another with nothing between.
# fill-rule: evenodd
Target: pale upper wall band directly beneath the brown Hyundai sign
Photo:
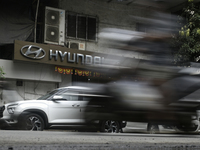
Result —
<instances>
[{"instance_id":1,"label":"pale upper wall band directly beneath the brown Hyundai sign","mask_svg":"<svg viewBox=\"0 0 200 150\"><path fill-rule=\"evenodd\" d=\"M53 65L14 62L0 59L0 64L9 79L61 82L61 76L54 72Z\"/></svg>"}]
</instances>

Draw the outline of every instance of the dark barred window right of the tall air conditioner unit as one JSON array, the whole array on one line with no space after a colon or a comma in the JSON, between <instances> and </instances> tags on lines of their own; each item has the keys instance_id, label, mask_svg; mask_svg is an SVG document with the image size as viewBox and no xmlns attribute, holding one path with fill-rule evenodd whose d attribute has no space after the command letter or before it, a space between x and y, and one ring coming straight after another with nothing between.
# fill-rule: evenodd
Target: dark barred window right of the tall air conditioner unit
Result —
<instances>
[{"instance_id":1,"label":"dark barred window right of the tall air conditioner unit","mask_svg":"<svg viewBox=\"0 0 200 150\"><path fill-rule=\"evenodd\" d=\"M97 40L97 17L66 13L66 38Z\"/></svg>"}]
</instances>

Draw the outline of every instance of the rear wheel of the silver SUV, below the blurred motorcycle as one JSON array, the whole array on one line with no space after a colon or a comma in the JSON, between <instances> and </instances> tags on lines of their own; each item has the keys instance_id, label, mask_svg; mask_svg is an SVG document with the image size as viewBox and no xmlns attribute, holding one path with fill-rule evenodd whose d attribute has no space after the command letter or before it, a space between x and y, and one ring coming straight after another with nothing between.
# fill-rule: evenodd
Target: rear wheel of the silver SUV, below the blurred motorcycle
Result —
<instances>
[{"instance_id":1,"label":"rear wheel of the silver SUV, below the blurred motorcycle","mask_svg":"<svg viewBox=\"0 0 200 150\"><path fill-rule=\"evenodd\" d=\"M107 133L118 133L119 128L120 126L118 121L107 120L103 121L101 131Z\"/></svg>"}]
</instances>

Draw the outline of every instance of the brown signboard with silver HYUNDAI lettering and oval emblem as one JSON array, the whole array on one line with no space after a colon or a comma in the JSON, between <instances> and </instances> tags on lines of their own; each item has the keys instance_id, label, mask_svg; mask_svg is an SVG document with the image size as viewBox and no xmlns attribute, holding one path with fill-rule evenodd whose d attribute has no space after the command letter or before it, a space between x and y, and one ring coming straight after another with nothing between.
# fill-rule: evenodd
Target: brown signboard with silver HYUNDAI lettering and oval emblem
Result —
<instances>
[{"instance_id":1,"label":"brown signboard with silver HYUNDAI lettering and oval emblem","mask_svg":"<svg viewBox=\"0 0 200 150\"><path fill-rule=\"evenodd\" d=\"M83 68L85 65L102 64L104 55L57 45L15 40L14 60Z\"/></svg>"}]
</instances>

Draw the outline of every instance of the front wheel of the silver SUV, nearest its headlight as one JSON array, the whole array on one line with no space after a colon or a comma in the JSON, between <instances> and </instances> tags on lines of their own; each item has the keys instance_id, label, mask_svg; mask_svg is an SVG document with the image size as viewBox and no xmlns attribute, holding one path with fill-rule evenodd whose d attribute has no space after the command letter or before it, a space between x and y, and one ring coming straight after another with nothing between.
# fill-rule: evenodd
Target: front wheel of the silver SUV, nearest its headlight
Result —
<instances>
[{"instance_id":1,"label":"front wheel of the silver SUV, nearest its headlight","mask_svg":"<svg viewBox=\"0 0 200 150\"><path fill-rule=\"evenodd\" d=\"M30 113L20 123L22 130L42 131L44 129L44 120L37 114Z\"/></svg>"}]
</instances>

